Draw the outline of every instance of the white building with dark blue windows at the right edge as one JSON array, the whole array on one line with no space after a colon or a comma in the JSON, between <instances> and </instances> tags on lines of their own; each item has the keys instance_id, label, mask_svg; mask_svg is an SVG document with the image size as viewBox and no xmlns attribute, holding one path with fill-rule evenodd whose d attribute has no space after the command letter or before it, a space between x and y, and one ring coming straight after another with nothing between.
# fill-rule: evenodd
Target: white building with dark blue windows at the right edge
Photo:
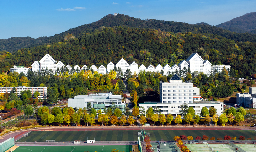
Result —
<instances>
[{"instance_id":1,"label":"white building with dark blue windows at the right edge","mask_svg":"<svg viewBox=\"0 0 256 152\"><path fill-rule=\"evenodd\" d=\"M256 87L249 87L249 93L237 93L236 104L242 107L256 108Z\"/></svg>"}]
</instances>

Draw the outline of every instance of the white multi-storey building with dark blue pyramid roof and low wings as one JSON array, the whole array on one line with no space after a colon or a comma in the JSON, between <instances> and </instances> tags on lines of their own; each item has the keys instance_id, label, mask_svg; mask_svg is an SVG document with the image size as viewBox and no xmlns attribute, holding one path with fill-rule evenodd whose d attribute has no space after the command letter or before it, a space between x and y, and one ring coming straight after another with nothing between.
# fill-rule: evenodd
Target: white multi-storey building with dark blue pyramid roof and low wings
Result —
<instances>
[{"instance_id":1,"label":"white multi-storey building with dark blue pyramid roof and low wings","mask_svg":"<svg viewBox=\"0 0 256 152\"><path fill-rule=\"evenodd\" d=\"M200 88L193 87L193 83L184 83L178 75L174 75L169 83L160 83L160 102L139 103L140 108L148 110L149 107L158 107L163 114L180 114L180 106L187 103L193 107L196 114L200 114L202 107L214 107L217 114L223 111L223 102L203 102L200 96Z\"/></svg>"}]
</instances>

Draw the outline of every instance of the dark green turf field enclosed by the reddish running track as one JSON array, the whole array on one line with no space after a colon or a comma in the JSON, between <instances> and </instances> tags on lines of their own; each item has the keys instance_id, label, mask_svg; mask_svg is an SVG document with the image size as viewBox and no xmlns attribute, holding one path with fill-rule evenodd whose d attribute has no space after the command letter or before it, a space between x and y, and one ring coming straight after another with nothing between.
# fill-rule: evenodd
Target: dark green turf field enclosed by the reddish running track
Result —
<instances>
[{"instance_id":1,"label":"dark green turf field enclosed by the reddish running track","mask_svg":"<svg viewBox=\"0 0 256 152\"><path fill-rule=\"evenodd\" d=\"M174 136L186 135L197 136L201 138L203 135L224 139L225 135L231 137L245 136L245 139L256 136L256 131L253 130L145 130L150 132L150 139L152 141L161 140L172 141ZM16 142L45 142L52 139L57 141L86 141L94 139L95 141L138 141L137 130L114 130L114 131L31 131L27 137L22 137Z\"/></svg>"}]
</instances>

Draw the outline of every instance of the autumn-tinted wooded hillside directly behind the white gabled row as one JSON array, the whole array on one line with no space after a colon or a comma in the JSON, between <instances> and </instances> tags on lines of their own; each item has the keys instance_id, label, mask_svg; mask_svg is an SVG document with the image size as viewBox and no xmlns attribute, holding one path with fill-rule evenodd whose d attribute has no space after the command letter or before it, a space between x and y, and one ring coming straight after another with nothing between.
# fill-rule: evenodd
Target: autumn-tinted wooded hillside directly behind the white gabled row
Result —
<instances>
[{"instance_id":1,"label":"autumn-tinted wooded hillside directly behind the white gabled row","mask_svg":"<svg viewBox=\"0 0 256 152\"><path fill-rule=\"evenodd\" d=\"M24 48L13 54L2 51L0 70L7 72L13 65L29 67L47 53L65 65L78 64L105 67L112 61L116 64L122 57L131 64L162 66L178 64L197 52L213 65L231 65L235 77L256 73L256 43L235 42L211 34L164 32L160 29L129 28L127 26L101 27L91 33L57 43Z\"/></svg>"}]
</instances>

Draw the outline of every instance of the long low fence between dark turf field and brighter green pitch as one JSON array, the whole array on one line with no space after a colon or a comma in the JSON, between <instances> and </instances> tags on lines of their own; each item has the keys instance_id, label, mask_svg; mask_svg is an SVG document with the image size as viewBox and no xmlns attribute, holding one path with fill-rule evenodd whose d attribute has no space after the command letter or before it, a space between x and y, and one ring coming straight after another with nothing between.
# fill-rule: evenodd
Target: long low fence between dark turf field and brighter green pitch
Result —
<instances>
[{"instance_id":1,"label":"long low fence between dark turf field and brighter green pitch","mask_svg":"<svg viewBox=\"0 0 256 152\"><path fill-rule=\"evenodd\" d=\"M14 143L17 146L20 145L74 145L74 141L48 141L48 142L15 142ZM95 143L87 144L86 141L81 141L80 145L135 145L138 144L137 141L95 141Z\"/></svg>"}]
</instances>

